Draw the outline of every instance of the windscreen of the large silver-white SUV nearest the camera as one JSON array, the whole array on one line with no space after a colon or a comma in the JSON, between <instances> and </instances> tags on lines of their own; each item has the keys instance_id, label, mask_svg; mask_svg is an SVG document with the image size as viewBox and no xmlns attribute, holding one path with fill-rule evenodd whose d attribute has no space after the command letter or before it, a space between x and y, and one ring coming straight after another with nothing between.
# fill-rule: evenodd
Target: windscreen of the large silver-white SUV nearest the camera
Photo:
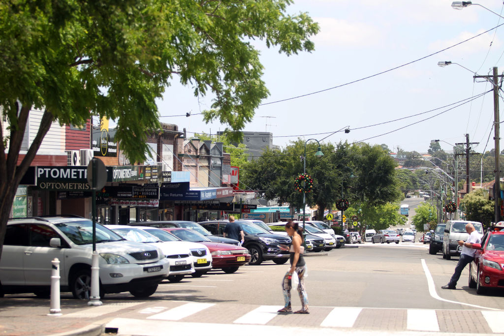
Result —
<instances>
[{"instance_id":1,"label":"windscreen of the large silver-white SUV nearest the camera","mask_svg":"<svg viewBox=\"0 0 504 336\"><path fill-rule=\"evenodd\" d=\"M93 222L89 220L56 223L54 224L76 245L86 245L93 243ZM109 241L123 240L116 233L106 227L96 223L96 242L104 243Z\"/></svg>"}]
</instances>

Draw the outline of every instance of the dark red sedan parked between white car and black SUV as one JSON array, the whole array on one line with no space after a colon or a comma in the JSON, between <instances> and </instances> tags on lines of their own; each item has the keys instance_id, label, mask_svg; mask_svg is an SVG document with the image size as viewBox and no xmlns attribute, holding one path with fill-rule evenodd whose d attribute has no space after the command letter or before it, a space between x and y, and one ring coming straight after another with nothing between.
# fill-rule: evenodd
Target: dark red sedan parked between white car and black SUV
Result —
<instances>
[{"instance_id":1,"label":"dark red sedan parked between white car and black SUV","mask_svg":"<svg viewBox=\"0 0 504 336\"><path fill-rule=\"evenodd\" d=\"M161 228L171 233L175 237L184 240L203 244L208 247L212 254L212 268L222 268L225 273L234 273L238 267L250 261L248 250L241 246L216 243L201 235L200 233L183 228Z\"/></svg>"}]
</instances>

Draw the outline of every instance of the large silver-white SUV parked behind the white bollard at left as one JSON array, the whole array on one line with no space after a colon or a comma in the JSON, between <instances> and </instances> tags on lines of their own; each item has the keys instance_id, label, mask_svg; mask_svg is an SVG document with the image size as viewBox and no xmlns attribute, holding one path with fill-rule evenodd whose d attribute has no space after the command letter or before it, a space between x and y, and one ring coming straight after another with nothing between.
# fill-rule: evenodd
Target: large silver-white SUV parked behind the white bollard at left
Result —
<instances>
[{"instance_id":1,"label":"large silver-white SUV parked behind the white bollard at left","mask_svg":"<svg viewBox=\"0 0 504 336\"><path fill-rule=\"evenodd\" d=\"M58 258L61 291L88 300L92 246L89 219L54 216L10 220L0 259L0 297L27 292L48 297L51 260ZM124 240L98 223L96 250L100 297L127 291L148 297L169 274L169 260L158 247Z\"/></svg>"}]
</instances>

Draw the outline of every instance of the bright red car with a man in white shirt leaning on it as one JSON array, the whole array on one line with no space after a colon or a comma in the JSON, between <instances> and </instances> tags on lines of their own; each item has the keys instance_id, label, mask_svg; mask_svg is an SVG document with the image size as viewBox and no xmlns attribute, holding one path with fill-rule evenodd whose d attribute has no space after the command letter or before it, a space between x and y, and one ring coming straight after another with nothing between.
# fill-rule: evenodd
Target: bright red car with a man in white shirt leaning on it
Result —
<instances>
[{"instance_id":1,"label":"bright red car with a man in white shirt leaning on it","mask_svg":"<svg viewBox=\"0 0 504 336\"><path fill-rule=\"evenodd\" d=\"M490 287L504 288L504 222L498 222L485 233L469 265L469 287L483 294Z\"/></svg>"}]
</instances>

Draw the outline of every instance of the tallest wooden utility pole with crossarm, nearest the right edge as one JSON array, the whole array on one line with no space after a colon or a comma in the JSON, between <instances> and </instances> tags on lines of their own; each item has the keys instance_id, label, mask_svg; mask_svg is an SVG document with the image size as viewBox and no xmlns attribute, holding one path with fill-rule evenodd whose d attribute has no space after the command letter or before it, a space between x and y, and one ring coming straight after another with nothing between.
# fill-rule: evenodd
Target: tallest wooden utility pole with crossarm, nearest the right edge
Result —
<instances>
[{"instance_id":1,"label":"tallest wooden utility pole with crossarm, nearest the right edge","mask_svg":"<svg viewBox=\"0 0 504 336\"><path fill-rule=\"evenodd\" d=\"M498 79L504 77L497 74L497 67L493 67L492 76L473 76L484 78L493 84L493 140L495 146L495 183L493 185L493 197L495 198L495 223L500 221L500 148L499 148L499 87Z\"/></svg>"}]
</instances>

